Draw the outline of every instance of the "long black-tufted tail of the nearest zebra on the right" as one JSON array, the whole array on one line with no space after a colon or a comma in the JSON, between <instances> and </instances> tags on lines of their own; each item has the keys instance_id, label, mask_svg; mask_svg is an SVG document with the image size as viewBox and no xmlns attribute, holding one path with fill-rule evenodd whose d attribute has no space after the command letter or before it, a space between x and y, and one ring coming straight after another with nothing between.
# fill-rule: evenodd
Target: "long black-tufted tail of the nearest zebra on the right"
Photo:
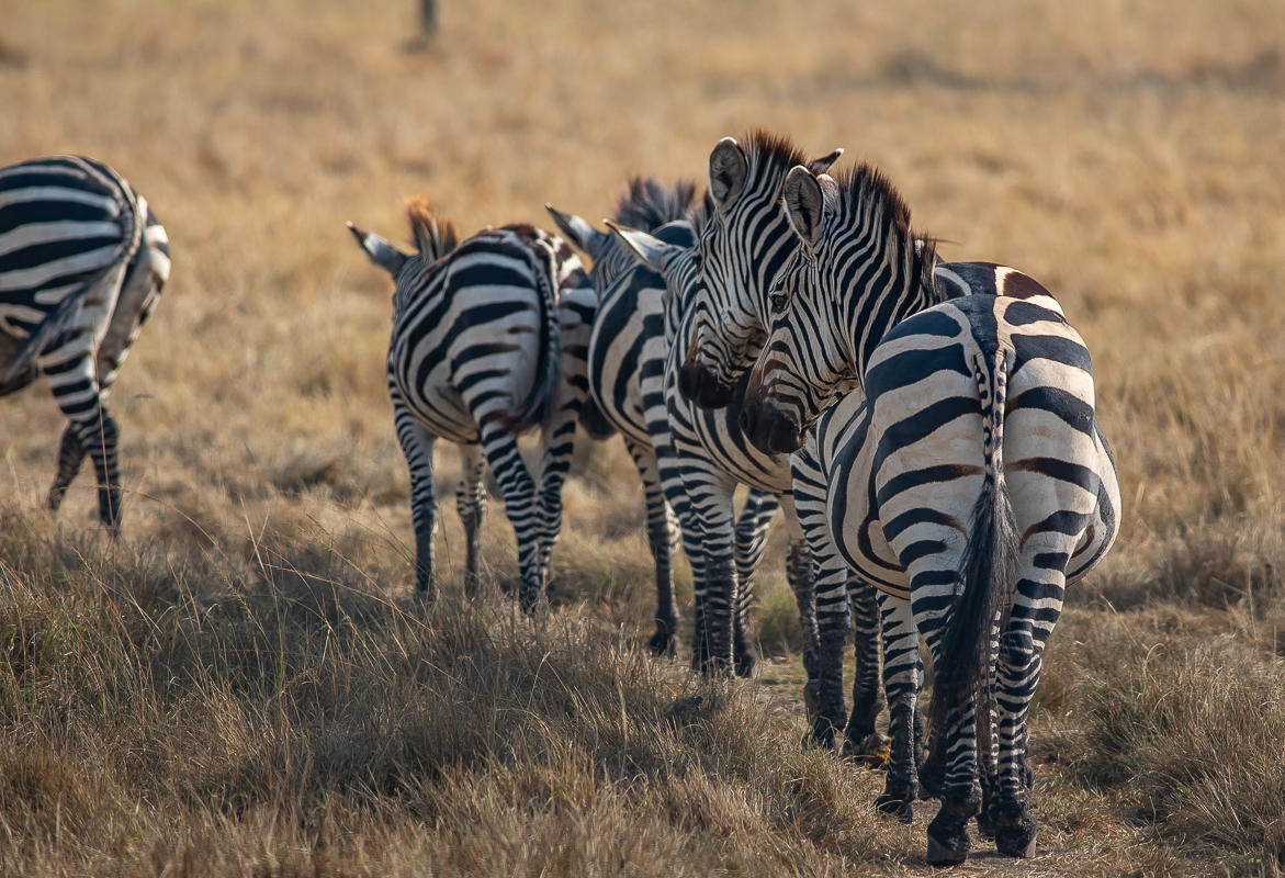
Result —
<instances>
[{"instance_id":1,"label":"long black-tufted tail of the nearest zebra on the right","mask_svg":"<svg viewBox=\"0 0 1285 878\"><path fill-rule=\"evenodd\" d=\"M1005 350L982 351L973 361L973 375L982 400L986 467L960 569L964 590L955 599L941 661L934 665L937 681L933 684L930 708L933 760L942 764L947 756L942 752L947 716L962 706L969 694L975 697L978 752L987 770L991 767L991 716L995 708L991 675L996 661L993 631L1001 613L1006 616L1022 546L1004 478L1004 406L1010 357L1011 354Z\"/></svg>"}]
</instances>

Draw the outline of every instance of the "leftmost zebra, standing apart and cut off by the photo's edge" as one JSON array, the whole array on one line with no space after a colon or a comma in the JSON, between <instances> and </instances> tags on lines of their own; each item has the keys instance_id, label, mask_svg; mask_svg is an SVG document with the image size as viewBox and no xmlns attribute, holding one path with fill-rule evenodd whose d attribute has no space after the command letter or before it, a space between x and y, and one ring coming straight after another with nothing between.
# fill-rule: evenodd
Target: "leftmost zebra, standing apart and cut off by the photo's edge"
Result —
<instances>
[{"instance_id":1,"label":"leftmost zebra, standing apart and cut off by the photo's edge","mask_svg":"<svg viewBox=\"0 0 1285 878\"><path fill-rule=\"evenodd\" d=\"M164 226L102 162L50 156L0 168L0 396L45 377L68 420L49 508L87 454L113 537L120 428L107 397L168 278Z\"/></svg>"}]
</instances>

